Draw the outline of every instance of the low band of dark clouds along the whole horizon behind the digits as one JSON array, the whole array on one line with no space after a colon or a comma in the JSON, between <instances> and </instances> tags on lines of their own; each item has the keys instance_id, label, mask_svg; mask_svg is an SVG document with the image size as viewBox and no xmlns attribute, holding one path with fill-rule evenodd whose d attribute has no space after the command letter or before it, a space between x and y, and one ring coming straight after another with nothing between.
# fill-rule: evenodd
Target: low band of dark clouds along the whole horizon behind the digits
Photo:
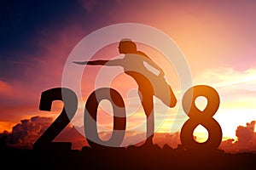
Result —
<instances>
[{"instance_id":1,"label":"low band of dark clouds along the whole horizon behind the digits","mask_svg":"<svg viewBox=\"0 0 256 170\"><path fill-rule=\"evenodd\" d=\"M53 122L51 117L33 116L31 119L21 120L16 124L12 132L4 131L0 133L0 149L15 147L32 149L32 144L44 133ZM220 150L228 153L252 151L256 152L256 133L254 132L256 121L248 122L245 127L239 126L236 129L237 139L224 140ZM102 139L109 139L111 132L99 133ZM124 145L135 144L137 146L144 143L144 133L126 132ZM79 133L78 127L67 125L53 142L72 142L73 150L81 150L83 146L88 146L84 136ZM165 145L175 149L181 144L180 133L155 133L153 143L160 148Z\"/></svg>"}]
</instances>

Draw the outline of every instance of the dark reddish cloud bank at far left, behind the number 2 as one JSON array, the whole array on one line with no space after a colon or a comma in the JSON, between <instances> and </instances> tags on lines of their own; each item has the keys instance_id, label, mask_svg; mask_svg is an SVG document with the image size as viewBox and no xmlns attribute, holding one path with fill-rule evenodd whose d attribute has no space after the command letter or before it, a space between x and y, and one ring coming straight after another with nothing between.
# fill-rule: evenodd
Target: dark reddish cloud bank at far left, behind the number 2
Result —
<instances>
[{"instance_id":1,"label":"dark reddish cloud bank at far left, behind the number 2","mask_svg":"<svg viewBox=\"0 0 256 170\"><path fill-rule=\"evenodd\" d=\"M31 119L21 120L16 124L11 133L4 131L0 133L0 149L7 147L32 149L32 144L44 133L53 122L51 117L33 116ZM68 141L73 143L73 149L81 149L86 145L86 139L75 127L67 125L54 141ZM87 144L88 145L88 144Z\"/></svg>"}]
</instances>

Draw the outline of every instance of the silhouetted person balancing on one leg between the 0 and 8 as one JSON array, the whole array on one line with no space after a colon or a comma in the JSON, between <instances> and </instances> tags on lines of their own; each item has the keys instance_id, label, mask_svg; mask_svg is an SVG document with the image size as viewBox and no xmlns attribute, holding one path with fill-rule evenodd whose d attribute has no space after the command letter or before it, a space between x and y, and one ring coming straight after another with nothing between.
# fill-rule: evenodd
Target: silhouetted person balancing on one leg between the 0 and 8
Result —
<instances>
[{"instance_id":1,"label":"silhouetted person balancing on one leg between the 0 and 8","mask_svg":"<svg viewBox=\"0 0 256 170\"><path fill-rule=\"evenodd\" d=\"M131 39L122 39L119 42L119 54L125 54L125 57L112 60L73 61L73 63L79 65L122 66L125 74L134 78L137 82L143 110L147 116L147 142L152 144L154 135L153 96L156 96L169 107L174 107L177 99L172 92L172 88L165 80L164 71L147 54L137 51L135 42L132 42Z\"/></svg>"}]
</instances>

